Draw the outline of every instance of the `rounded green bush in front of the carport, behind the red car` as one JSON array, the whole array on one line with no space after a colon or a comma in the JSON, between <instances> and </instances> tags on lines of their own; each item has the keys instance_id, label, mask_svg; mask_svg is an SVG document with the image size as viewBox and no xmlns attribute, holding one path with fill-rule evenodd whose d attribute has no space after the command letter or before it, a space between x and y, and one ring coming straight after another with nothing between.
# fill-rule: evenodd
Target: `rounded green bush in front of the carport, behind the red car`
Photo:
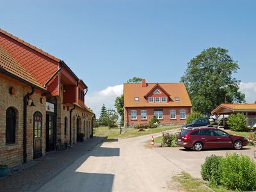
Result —
<instances>
[{"instance_id":1,"label":"rounded green bush in front of the carport, behind the red car","mask_svg":"<svg viewBox=\"0 0 256 192\"><path fill-rule=\"evenodd\" d=\"M228 116L227 124L232 131L247 131L246 116L243 113Z\"/></svg>"}]
</instances>

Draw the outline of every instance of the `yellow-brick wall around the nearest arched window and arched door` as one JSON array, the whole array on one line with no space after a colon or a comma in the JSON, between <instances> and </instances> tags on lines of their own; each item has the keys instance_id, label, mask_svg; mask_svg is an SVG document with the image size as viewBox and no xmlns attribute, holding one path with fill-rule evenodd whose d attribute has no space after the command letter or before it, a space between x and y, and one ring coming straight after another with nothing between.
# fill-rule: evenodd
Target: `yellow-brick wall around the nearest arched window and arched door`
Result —
<instances>
[{"instance_id":1,"label":"yellow-brick wall around the nearest arched window and arched door","mask_svg":"<svg viewBox=\"0 0 256 192\"><path fill-rule=\"evenodd\" d=\"M4 79L3 79L4 78ZM0 76L0 164L15 166L23 163L23 98L31 88L18 82ZM9 93L10 87L14 87L15 95ZM45 99L40 103L40 92L35 92L31 99L36 107L28 106L27 118L27 153L28 161L33 160L33 115L40 111L43 116L42 123L42 152L45 154ZM31 104L31 102L29 102ZM6 145L6 109L12 107L16 111L15 143Z\"/></svg>"}]
</instances>

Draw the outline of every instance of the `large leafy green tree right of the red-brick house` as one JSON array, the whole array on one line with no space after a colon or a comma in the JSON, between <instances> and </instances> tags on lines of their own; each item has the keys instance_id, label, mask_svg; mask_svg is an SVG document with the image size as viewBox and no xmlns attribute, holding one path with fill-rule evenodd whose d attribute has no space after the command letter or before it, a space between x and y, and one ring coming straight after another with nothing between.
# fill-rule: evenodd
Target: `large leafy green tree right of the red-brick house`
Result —
<instances>
[{"instance_id":1,"label":"large leafy green tree right of the red-brick house","mask_svg":"<svg viewBox=\"0 0 256 192\"><path fill-rule=\"evenodd\" d=\"M221 103L244 102L240 81L232 77L238 69L228 50L220 47L206 49L190 60L181 82L188 90L193 111L210 115Z\"/></svg>"}]
</instances>

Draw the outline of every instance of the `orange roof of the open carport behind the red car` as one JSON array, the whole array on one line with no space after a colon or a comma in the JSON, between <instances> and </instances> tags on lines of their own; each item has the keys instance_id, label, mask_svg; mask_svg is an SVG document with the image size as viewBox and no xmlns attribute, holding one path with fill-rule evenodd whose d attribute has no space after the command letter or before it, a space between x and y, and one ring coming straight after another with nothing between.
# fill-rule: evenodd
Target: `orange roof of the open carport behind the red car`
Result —
<instances>
[{"instance_id":1,"label":"orange roof of the open carport behind the red car","mask_svg":"<svg viewBox=\"0 0 256 192\"><path fill-rule=\"evenodd\" d=\"M224 109L229 109L230 111L256 111L256 104L220 104L212 113L222 112ZM224 111L223 111L224 112Z\"/></svg>"}]
</instances>

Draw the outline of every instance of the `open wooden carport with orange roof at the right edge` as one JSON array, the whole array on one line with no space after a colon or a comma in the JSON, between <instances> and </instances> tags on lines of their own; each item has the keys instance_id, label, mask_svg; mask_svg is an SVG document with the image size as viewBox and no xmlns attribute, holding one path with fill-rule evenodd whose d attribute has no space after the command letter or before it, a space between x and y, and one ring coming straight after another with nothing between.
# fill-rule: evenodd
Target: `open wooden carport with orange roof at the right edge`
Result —
<instances>
[{"instance_id":1,"label":"open wooden carport with orange roof at the right edge","mask_svg":"<svg viewBox=\"0 0 256 192\"><path fill-rule=\"evenodd\" d=\"M233 113L244 113L246 115L246 126L253 126L256 123L256 104L220 104L212 111L212 115L220 116Z\"/></svg>"}]
</instances>

